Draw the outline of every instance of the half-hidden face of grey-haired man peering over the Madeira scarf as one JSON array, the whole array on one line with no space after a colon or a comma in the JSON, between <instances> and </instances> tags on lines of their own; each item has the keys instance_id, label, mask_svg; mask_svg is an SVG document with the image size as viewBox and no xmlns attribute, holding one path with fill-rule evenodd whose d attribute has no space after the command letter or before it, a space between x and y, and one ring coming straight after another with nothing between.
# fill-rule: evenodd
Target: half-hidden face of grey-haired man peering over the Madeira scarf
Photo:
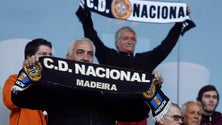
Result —
<instances>
[{"instance_id":1,"label":"half-hidden face of grey-haired man peering over the Madeira scarf","mask_svg":"<svg viewBox=\"0 0 222 125\"><path fill-rule=\"evenodd\" d=\"M74 61L93 63L93 47L89 42L78 41L75 43L72 55L68 55L67 59Z\"/></svg>"}]
</instances>

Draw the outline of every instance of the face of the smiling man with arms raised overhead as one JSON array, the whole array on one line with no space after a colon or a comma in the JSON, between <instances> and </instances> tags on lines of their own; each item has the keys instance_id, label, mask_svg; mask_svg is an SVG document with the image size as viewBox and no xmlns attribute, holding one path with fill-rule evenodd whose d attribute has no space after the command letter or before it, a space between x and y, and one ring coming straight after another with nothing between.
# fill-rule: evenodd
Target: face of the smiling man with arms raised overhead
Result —
<instances>
[{"instance_id":1,"label":"face of the smiling man with arms raised overhead","mask_svg":"<svg viewBox=\"0 0 222 125\"><path fill-rule=\"evenodd\" d=\"M133 32L125 32L117 42L117 47L120 52L133 53L136 45L136 36Z\"/></svg>"}]
</instances>

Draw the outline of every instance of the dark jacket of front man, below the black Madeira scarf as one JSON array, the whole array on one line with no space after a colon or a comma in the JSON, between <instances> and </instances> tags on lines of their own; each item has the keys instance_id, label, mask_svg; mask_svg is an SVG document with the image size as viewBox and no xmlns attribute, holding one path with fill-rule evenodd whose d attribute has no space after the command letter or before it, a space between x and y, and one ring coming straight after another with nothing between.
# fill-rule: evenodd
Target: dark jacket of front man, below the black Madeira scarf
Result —
<instances>
[{"instance_id":1,"label":"dark jacket of front man, below the black Madeira scarf","mask_svg":"<svg viewBox=\"0 0 222 125\"><path fill-rule=\"evenodd\" d=\"M47 125L114 125L115 119L100 92L73 90L58 86L32 84L12 93L14 104L48 113Z\"/></svg>"}]
</instances>

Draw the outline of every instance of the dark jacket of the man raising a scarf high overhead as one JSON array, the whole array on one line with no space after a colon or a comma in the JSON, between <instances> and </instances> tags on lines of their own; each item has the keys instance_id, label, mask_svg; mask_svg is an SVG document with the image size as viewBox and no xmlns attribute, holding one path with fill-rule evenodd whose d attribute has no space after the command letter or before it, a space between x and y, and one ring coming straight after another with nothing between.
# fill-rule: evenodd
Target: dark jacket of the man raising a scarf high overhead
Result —
<instances>
[{"instance_id":1,"label":"dark jacket of the man raising a scarf high overhead","mask_svg":"<svg viewBox=\"0 0 222 125\"><path fill-rule=\"evenodd\" d=\"M141 70L148 73L152 73L169 55L176 45L182 30L182 23L176 23L167 37L153 50L136 53L135 55L133 53L127 54L105 46L93 27L90 14L86 14L86 16L81 14L77 13L83 23L84 35L93 41L96 46L96 57L100 64ZM138 96L120 96L115 102L120 107L114 113L118 121L141 121L148 117L149 107Z\"/></svg>"}]
</instances>

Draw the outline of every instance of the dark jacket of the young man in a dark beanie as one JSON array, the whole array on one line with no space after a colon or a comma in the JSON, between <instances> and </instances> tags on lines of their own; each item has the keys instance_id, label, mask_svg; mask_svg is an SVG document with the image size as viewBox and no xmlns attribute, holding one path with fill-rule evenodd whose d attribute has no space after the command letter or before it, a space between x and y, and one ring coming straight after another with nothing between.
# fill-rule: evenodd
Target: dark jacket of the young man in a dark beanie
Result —
<instances>
[{"instance_id":1,"label":"dark jacket of the young man in a dark beanie","mask_svg":"<svg viewBox=\"0 0 222 125\"><path fill-rule=\"evenodd\" d=\"M214 112L211 116L202 115L200 125L222 125L222 114Z\"/></svg>"}]
</instances>

